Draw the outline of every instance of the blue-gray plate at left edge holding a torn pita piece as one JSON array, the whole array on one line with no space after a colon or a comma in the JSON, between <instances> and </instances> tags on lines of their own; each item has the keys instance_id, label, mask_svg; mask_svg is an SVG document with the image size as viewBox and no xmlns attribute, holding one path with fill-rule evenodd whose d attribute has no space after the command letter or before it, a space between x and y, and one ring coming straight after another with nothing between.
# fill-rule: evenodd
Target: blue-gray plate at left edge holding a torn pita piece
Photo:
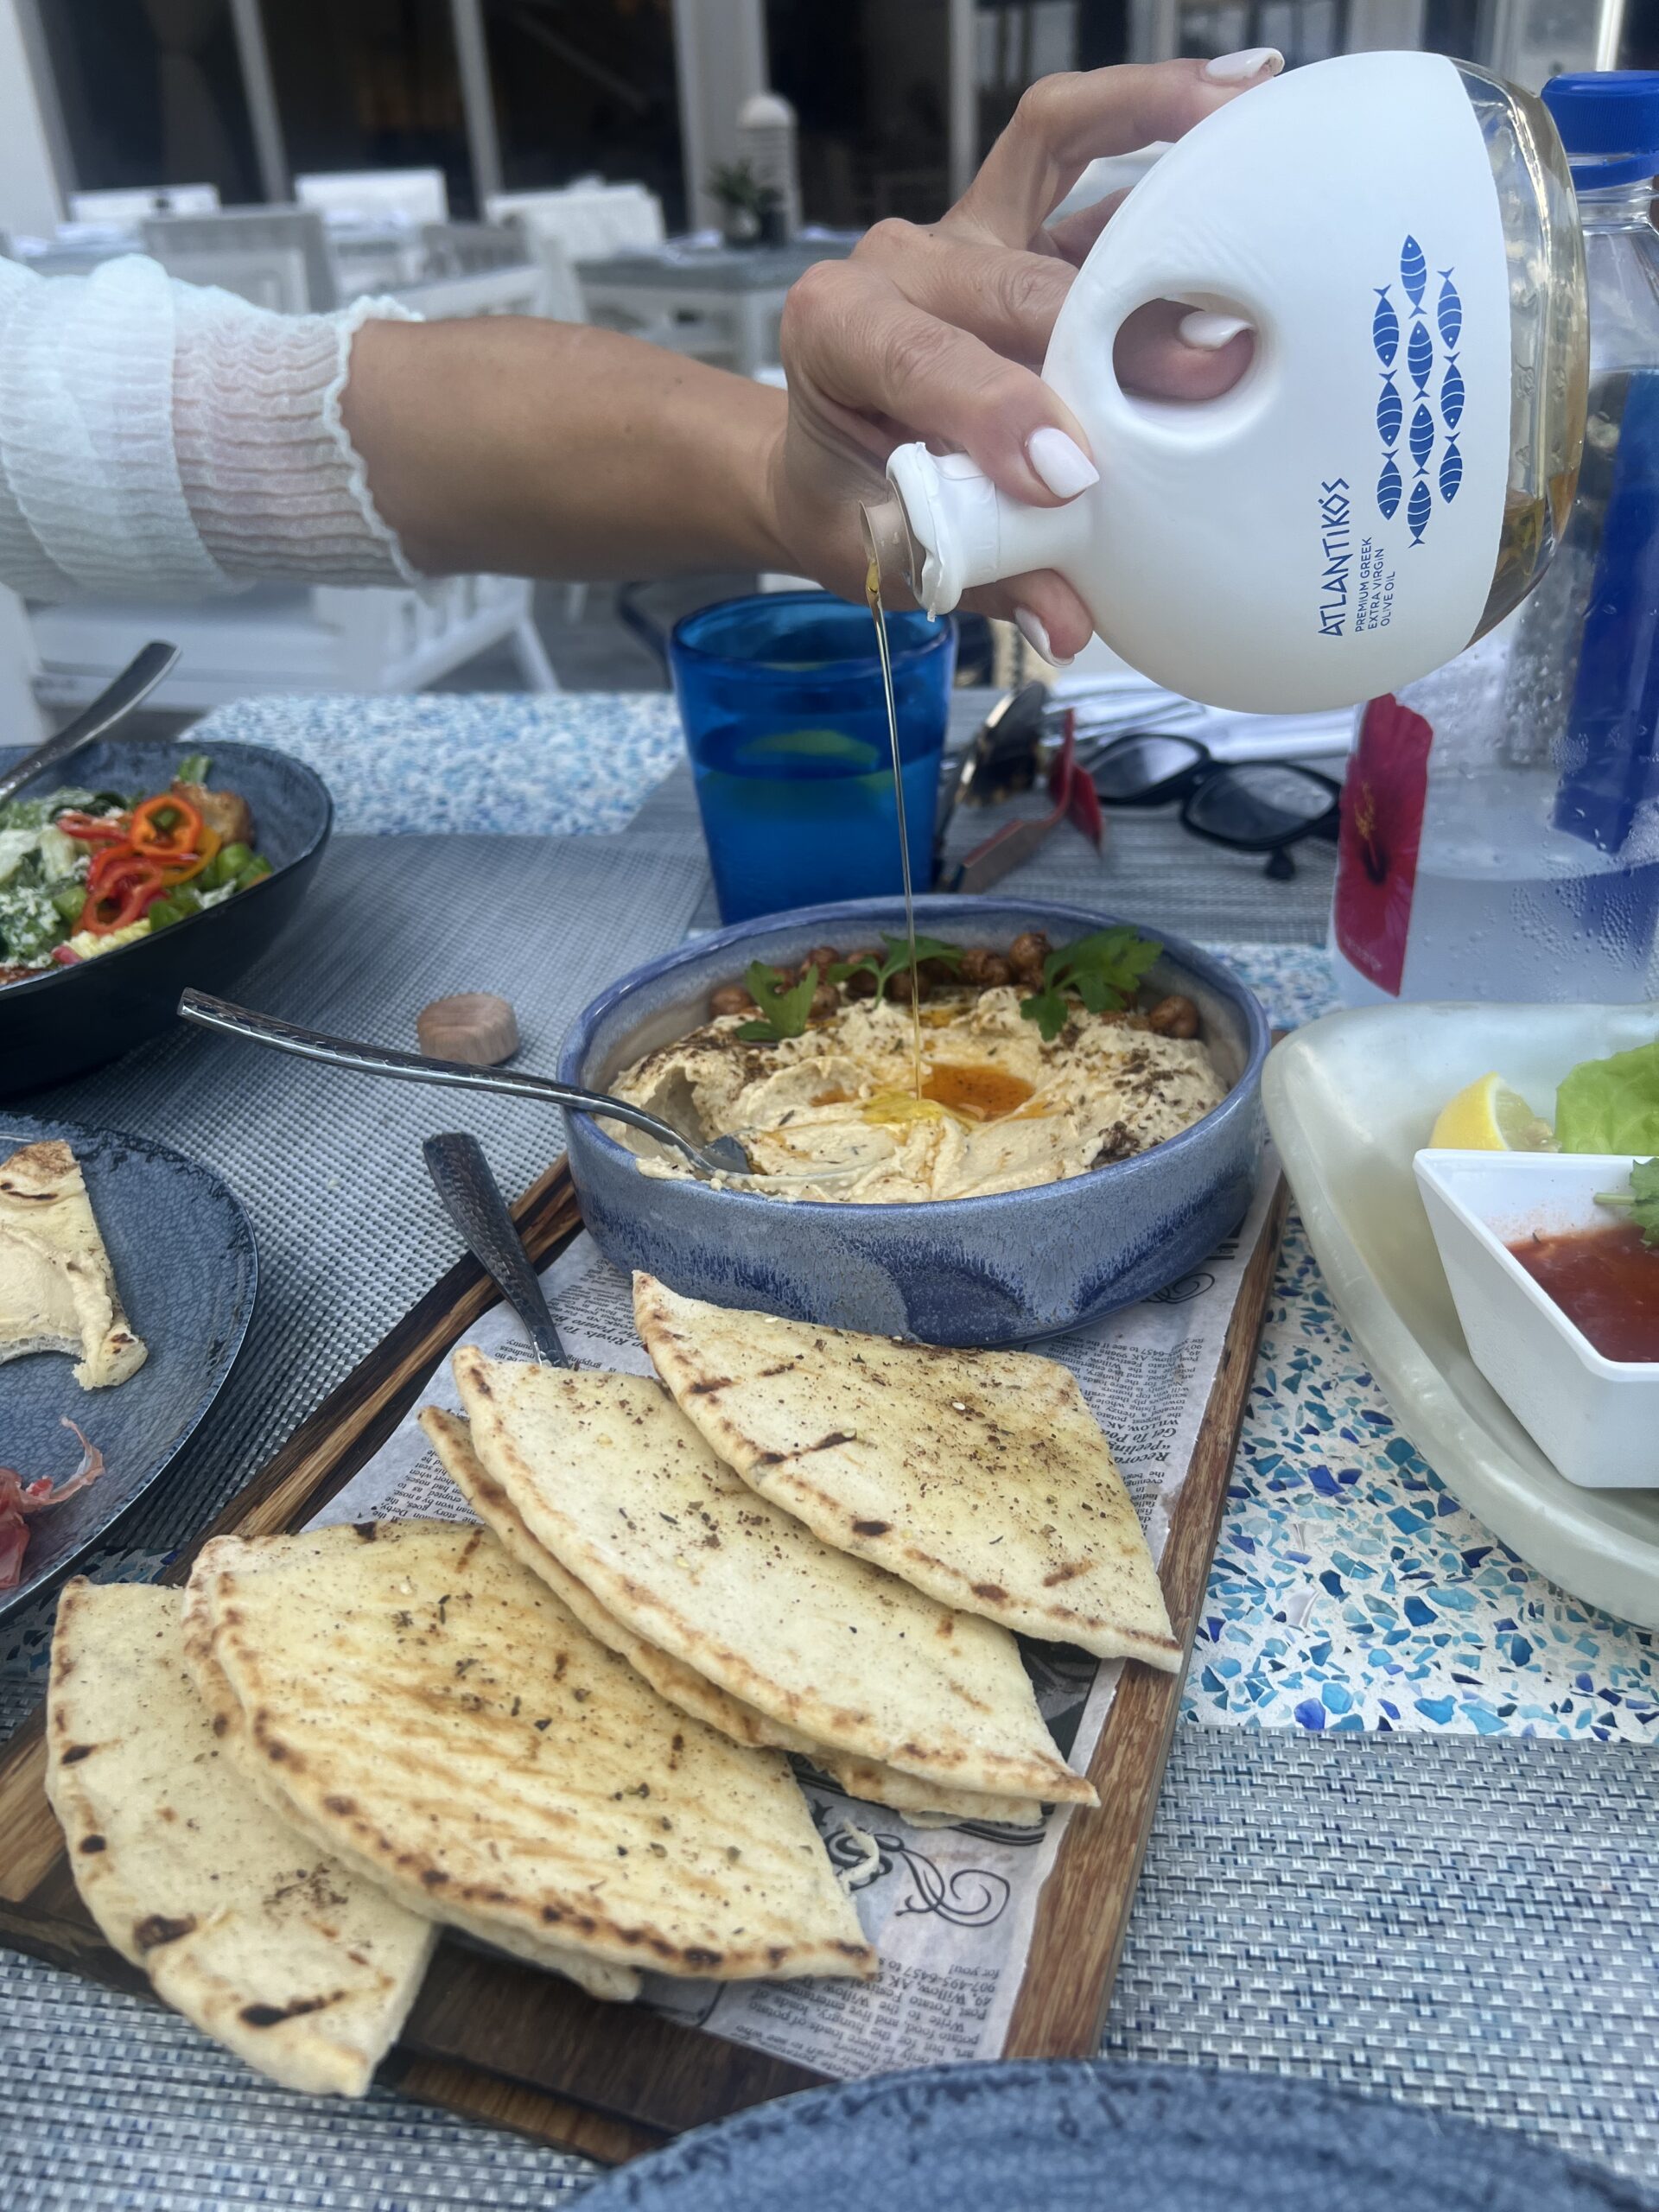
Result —
<instances>
[{"instance_id":1,"label":"blue-gray plate at left edge holding a torn pita piece","mask_svg":"<svg viewBox=\"0 0 1659 2212\"><path fill-rule=\"evenodd\" d=\"M259 1281L248 1217L208 1168L148 1137L0 1106L0 1157L42 1137L62 1137L82 1166L122 1303L150 1356L128 1383L95 1391L58 1352L0 1365L0 1467L24 1482L73 1473L80 1451L64 1413L104 1453L97 1482L29 1522L22 1582L0 1593L0 1619L66 1575L166 1473L230 1374Z\"/></svg>"}]
</instances>

